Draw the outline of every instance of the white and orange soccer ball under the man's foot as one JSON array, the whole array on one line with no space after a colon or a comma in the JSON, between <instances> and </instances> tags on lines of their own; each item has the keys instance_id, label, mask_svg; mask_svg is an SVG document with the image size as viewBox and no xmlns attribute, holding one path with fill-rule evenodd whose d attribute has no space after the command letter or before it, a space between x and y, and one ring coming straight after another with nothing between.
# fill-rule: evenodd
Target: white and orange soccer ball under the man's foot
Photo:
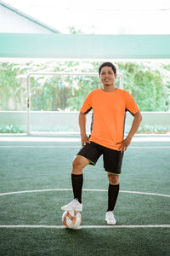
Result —
<instances>
[{"instance_id":1,"label":"white and orange soccer ball under the man's foot","mask_svg":"<svg viewBox=\"0 0 170 256\"><path fill-rule=\"evenodd\" d=\"M67 229L77 230L82 223L82 216L77 210L65 211L62 215L62 223Z\"/></svg>"}]
</instances>

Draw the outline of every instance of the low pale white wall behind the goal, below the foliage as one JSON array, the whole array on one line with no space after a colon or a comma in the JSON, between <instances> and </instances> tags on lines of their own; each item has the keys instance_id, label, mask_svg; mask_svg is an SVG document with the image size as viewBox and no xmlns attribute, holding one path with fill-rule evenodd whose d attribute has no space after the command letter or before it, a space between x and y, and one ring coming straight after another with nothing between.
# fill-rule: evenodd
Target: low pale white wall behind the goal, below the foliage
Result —
<instances>
[{"instance_id":1,"label":"low pale white wall behind the goal, below the foliage","mask_svg":"<svg viewBox=\"0 0 170 256\"><path fill-rule=\"evenodd\" d=\"M143 120L140 128L164 126L170 131L170 113L167 112L142 112ZM126 132L133 122L133 116L127 113ZM7 125L20 127L26 132L26 111L0 111L0 128ZM91 113L87 116L87 131L90 131ZM31 112L31 131L62 131L79 132L78 112Z\"/></svg>"}]
</instances>

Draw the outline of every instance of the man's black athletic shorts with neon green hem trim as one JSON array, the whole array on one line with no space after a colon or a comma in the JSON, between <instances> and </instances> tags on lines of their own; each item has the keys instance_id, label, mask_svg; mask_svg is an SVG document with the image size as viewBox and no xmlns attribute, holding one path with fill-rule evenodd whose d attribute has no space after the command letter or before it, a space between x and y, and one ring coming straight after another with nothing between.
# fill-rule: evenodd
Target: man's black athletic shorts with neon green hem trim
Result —
<instances>
[{"instance_id":1,"label":"man's black athletic shorts with neon green hem trim","mask_svg":"<svg viewBox=\"0 0 170 256\"><path fill-rule=\"evenodd\" d=\"M104 168L106 172L120 174L122 167L123 152L111 148L106 148L97 143L87 143L77 155L81 155L89 160L89 165L95 166L100 155L103 154Z\"/></svg>"}]
</instances>

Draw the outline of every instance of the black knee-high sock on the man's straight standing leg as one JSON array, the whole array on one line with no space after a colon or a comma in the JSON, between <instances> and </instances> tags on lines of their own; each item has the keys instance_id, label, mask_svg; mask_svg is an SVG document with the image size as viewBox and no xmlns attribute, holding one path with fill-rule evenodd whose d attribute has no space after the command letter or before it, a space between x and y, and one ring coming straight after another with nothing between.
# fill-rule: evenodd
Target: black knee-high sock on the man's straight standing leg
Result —
<instances>
[{"instance_id":1,"label":"black knee-high sock on the man's straight standing leg","mask_svg":"<svg viewBox=\"0 0 170 256\"><path fill-rule=\"evenodd\" d=\"M109 184L109 189L108 189L108 209L107 209L107 212L114 210L118 194L119 194L119 184L117 184L117 185Z\"/></svg>"}]
</instances>

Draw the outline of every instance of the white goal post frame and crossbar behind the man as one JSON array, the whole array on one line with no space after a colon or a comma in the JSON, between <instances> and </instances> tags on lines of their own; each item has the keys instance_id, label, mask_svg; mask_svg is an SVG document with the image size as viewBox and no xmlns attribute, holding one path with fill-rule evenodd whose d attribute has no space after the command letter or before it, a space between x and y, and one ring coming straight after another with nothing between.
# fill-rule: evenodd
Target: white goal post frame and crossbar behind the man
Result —
<instances>
[{"instance_id":1,"label":"white goal post frame and crossbar behind the man","mask_svg":"<svg viewBox=\"0 0 170 256\"><path fill-rule=\"evenodd\" d=\"M37 75L54 75L54 76L99 76L99 73L63 73L63 72L31 72L27 73L27 135L31 134L31 77ZM123 89L123 77L122 73L117 73L117 76L120 77L120 88Z\"/></svg>"}]
</instances>

